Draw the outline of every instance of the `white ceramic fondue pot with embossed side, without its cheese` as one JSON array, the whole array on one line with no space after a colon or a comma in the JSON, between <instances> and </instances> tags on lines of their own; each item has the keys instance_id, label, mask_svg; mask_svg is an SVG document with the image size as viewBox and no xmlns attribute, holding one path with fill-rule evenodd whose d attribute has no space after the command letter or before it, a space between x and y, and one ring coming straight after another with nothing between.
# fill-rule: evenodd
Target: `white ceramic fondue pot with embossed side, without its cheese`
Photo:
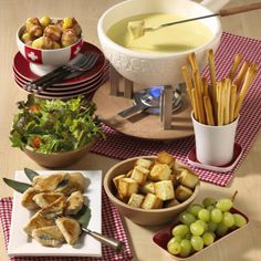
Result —
<instances>
[{"instance_id":1,"label":"white ceramic fondue pot with embossed side, without its cheese","mask_svg":"<svg viewBox=\"0 0 261 261\"><path fill-rule=\"evenodd\" d=\"M113 42L106 31L118 21L144 13L176 13L185 18L212 14L229 0L205 0L201 4L190 0L127 0L123 1L101 17L97 24L102 49L116 71L124 77L142 85L175 85L184 82L180 67L187 63L187 55L195 52L200 69L205 65L206 50L217 50L222 29L218 18L202 19L212 38L205 44L180 53L142 53L121 46Z\"/></svg>"}]
</instances>

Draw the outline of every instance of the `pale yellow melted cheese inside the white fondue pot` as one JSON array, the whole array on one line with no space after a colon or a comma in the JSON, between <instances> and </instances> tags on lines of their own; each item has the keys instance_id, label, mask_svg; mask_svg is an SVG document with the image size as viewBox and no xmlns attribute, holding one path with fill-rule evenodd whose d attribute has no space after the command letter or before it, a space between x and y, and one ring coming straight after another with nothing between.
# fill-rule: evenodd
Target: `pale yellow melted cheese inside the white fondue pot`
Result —
<instances>
[{"instance_id":1,"label":"pale yellow melted cheese inside the white fondue pot","mask_svg":"<svg viewBox=\"0 0 261 261\"><path fill-rule=\"evenodd\" d=\"M158 27L161 23L184 20L186 18L173 13L146 13L130 17L112 25L106 34L115 43L133 51L146 53L178 53L192 50L212 38L210 29L200 21L165 27L146 32L140 38L133 38L128 24L144 21L145 28Z\"/></svg>"}]
</instances>

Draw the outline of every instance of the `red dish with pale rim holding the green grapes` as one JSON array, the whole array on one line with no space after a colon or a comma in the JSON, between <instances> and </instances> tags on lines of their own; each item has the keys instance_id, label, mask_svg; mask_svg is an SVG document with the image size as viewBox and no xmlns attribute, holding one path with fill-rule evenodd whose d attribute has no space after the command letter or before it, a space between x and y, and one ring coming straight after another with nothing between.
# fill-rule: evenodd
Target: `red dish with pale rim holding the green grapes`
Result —
<instances>
[{"instance_id":1,"label":"red dish with pale rim holding the green grapes","mask_svg":"<svg viewBox=\"0 0 261 261\"><path fill-rule=\"evenodd\" d=\"M178 220L176 220L176 221L173 223L173 226L169 226L169 227L167 227L167 228L165 228L165 229L158 231L156 234L154 234L153 241L154 241L154 243L155 243L157 247L159 247L165 253L169 254L169 257L173 257L174 260L188 260L188 259L190 259L190 258L192 259L195 255L198 255L198 254L202 253L206 249L209 249L209 248L211 248L212 246L217 244L220 240L232 236L233 233L238 232L239 230L241 230L241 229L243 229L243 228L246 228L246 227L248 226L248 223L249 223L249 218L248 218L244 213L240 212L240 211L237 210L236 208L232 208L232 209L230 210L230 212L242 215L242 216L247 219L247 225L244 225L244 226L241 227L241 228L237 228L237 229L234 229L234 230L229 231L229 232L228 232L226 236L223 236L223 237L217 238L212 244L210 244L210 246L208 246L208 247L205 247L205 248L203 248L202 250L200 250L199 252L195 252L195 253L192 253L191 255L189 255L189 257L187 257L187 258L181 258L181 257L179 257L179 255L173 255L173 254L169 253L168 250L167 250L167 243L168 243L168 241L173 238L171 230L173 230L173 228L174 228L175 226L177 226L177 225L179 223Z\"/></svg>"}]
</instances>

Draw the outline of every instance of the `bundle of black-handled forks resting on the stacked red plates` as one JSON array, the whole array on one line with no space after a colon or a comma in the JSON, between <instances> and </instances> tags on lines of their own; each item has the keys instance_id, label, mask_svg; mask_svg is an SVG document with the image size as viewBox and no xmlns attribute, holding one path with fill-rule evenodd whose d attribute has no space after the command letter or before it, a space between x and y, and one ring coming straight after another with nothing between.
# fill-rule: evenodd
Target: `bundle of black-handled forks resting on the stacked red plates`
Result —
<instances>
[{"instance_id":1,"label":"bundle of black-handled forks resting on the stacked red plates","mask_svg":"<svg viewBox=\"0 0 261 261\"><path fill-rule=\"evenodd\" d=\"M54 71L43 75L42 77L34 80L32 82L29 82L25 84L27 91L42 91L42 88L46 88L48 86L52 85L53 83L56 83L71 73L79 72L80 74L83 72L86 72L91 70L96 61L98 60L100 54L95 52L85 52L82 54L82 56L73 64L69 65L62 65ZM44 85L45 84L45 85Z\"/></svg>"}]
</instances>

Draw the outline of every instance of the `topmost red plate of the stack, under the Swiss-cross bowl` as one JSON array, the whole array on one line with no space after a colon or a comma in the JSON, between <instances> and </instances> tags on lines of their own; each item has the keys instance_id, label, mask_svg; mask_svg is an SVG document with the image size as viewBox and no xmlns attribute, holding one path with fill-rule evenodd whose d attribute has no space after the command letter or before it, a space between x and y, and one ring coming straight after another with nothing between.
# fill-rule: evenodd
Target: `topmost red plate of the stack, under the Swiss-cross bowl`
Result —
<instances>
[{"instance_id":1,"label":"topmost red plate of the stack, under the Swiss-cross bowl","mask_svg":"<svg viewBox=\"0 0 261 261\"><path fill-rule=\"evenodd\" d=\"M84 74L81 74L77 77L66 79L62 83L55 84L56 86L61 86L61 85L65 86L65 85L83 83L83 82L90 81L92 77L94 77L98 73L101 73L101 71L103 70L103 67L105 65L105 56L104 56L103 52L98 48L96 48L95 45L84 42L81 53L84 53L86 51L96 52L100 54L100 59L96 62L95 66L92 70L87 71ZM34 81L34 80L39 79L39 75L34 74L31 71L30 63L22 56L22 54L20 52L18 52L14 55L13 69L15 71L15 73L19 74L19 76L23 77L27 81Z\"/></svg>"}]
</instances>

